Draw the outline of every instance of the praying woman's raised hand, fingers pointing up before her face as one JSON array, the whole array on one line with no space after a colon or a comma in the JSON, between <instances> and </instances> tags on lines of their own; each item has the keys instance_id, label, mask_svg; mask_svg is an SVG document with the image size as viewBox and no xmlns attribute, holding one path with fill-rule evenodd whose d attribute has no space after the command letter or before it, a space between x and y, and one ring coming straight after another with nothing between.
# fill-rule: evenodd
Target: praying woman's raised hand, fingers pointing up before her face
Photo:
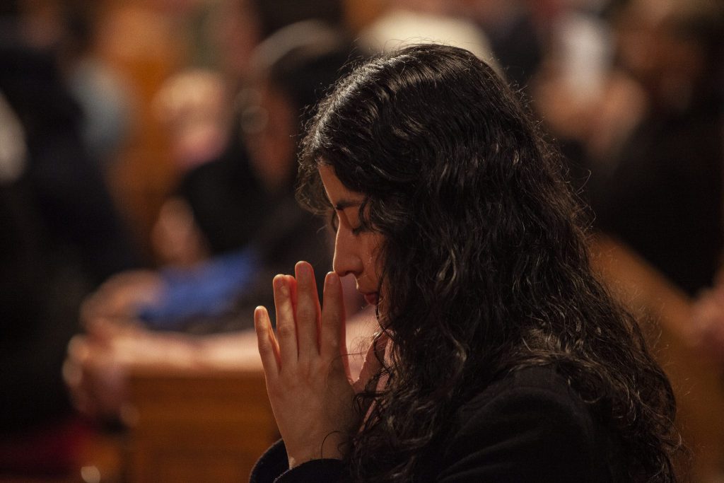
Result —
<instances>
[{"instance_id":1,"label":"praying woman's raised hand, fingers pointing up before her face","mask_svg":"<svg viewBox=\"0 0 724 483\"><path fill-rule=\"evenodd\" d=\"M274 277L276 336L266 308L254 312L266 390L290 468L317 458L342 458L360 422L345 355L340 278L327 274L320 309L311 265L300 261L295 272L296 280Z\"/></svg>"}]
</instances>

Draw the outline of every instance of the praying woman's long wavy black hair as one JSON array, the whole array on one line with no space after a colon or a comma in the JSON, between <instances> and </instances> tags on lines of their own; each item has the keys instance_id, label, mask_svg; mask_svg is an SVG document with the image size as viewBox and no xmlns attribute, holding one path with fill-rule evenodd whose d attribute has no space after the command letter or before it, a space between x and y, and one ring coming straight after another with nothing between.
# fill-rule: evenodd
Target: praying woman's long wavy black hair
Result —
<instances>
[{"instance_id":1,"label":"praying woman's long wavy black hair","mask_svg":"<svg viewBox=\"0 0 724 483\"><path fill-rule=\"evenodd\" d=\"M487 64L438 45L362 64L302 143L298 198L329 212L320 164L366 196L361 220L384 235L392 356L384 389L378 374L358 395L374 405L352 437L355 479L419 478L466 400L555 364L617 434L624 481L675 481L668 379L592 274L560 157Z\"/></svg>"}]
</instances>

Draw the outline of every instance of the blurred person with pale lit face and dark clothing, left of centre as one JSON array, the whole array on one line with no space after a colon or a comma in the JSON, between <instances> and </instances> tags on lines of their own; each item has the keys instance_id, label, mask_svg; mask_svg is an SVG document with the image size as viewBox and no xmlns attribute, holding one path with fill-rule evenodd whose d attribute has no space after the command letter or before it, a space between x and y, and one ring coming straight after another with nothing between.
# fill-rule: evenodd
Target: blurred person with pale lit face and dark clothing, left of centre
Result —
<instances>
[{"instance_id":1,"label":"blurred person with pale lit face and dark clothing, left of centre","mask_svg":"<svg viewBox=\"0 0 724 483\"><path fill-rule=\"evenodd\" d=\"M250 218L242 207L253 200L245 148L232 140L233 102L218 72L188 69L161 87L153 110L171 140L179 186L164 201L151 231L161 265L190 266L248 242ZM219 168L226 168L222 176ZM226 199L224 199L225 197ZM239 217L239 225L227 220Z\"/></svg>"}]
</instances>

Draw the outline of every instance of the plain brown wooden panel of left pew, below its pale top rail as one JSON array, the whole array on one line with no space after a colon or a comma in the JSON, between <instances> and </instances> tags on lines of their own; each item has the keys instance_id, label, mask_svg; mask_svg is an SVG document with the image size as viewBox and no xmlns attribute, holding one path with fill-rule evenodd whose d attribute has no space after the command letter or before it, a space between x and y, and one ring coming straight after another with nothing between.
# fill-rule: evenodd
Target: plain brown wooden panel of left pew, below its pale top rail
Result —
<instances>
[{"instance_id":1,"label":"plain brown wooden panel of left pew, below its pale top rail","mask_svg":"<svg viewBox=\"0 0 724 483\"><path fill-rule=\"evenodd\" d=\"M128 379L130 482L245 482L277 440L254 369L134 369Z\"/></svg>"}]
</instances>

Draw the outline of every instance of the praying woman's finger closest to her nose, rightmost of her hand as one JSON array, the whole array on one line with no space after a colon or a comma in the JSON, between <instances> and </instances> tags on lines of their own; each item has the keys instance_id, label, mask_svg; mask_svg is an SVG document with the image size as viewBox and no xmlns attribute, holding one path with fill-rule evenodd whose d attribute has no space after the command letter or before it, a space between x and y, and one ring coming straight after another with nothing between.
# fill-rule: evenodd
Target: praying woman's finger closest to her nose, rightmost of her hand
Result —
<instances>
[{"instance_id":1,"label":"praying woman's finger closest to her nose, rightmost of her hand","mask_svg":"<svg viewBox=\"0 0 724 483\"><path fill-rule=\"evenodd\" d=\"M345 304L342 299L342 284L337 274L329 272L324 279L324 306L321 309L319 352L324 358L339 358L342 348L346 347ZM344 364L345 361L342 363ZM345 364L345 371L348 371L348 364Z\"/></svg>"}]
</instances>

